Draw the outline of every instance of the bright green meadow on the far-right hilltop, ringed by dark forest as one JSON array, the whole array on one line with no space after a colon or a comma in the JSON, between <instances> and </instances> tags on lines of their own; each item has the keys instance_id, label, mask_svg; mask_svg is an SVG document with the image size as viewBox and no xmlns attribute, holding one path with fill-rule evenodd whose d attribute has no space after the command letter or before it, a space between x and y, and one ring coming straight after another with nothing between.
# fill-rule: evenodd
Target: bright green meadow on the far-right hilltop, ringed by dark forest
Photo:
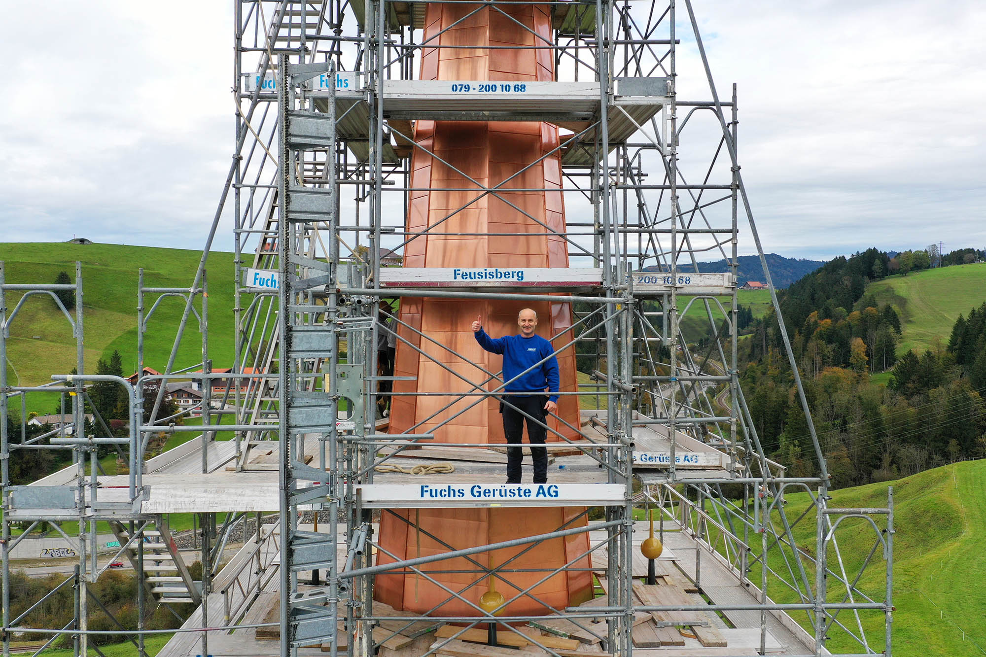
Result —
<instances>
[{"instance_id":1,"label":"bright green meadow on the far-right hilltop, ringed by dark forest","mask_svg":"<svg viewBox=\"0 0 986 657\"><path fill-rule=\"evenodd\" d=\"M902 339L898 352L948 343L959 315L986 301L986 263L961 264L887 276L871 283L867 294L892 304L900 315Z\"/></svg>"}]
</instances>

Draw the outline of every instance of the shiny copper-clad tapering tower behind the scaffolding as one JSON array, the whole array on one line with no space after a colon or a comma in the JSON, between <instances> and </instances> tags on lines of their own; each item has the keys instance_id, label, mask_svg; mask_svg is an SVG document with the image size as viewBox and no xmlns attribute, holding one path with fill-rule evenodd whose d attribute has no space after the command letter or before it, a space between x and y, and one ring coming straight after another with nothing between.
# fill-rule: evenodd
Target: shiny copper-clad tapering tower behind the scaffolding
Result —
<instances>
[{"instance_id":1,"label":"shiny copper-clad tapering tower behind the scaffolding","mask_svg":"<svg viewBox=\"0 0 986 657\"><path fill-rule=\"evenodd\" d=\"M435 45L542 45L551 39L549 9L533 5L503 5L473 12L477 5L429 4L426 10L425 39L435 37L459 19L455 28L435 37ZM516 22L533 29L535 37ZM487 50L465 48L424 48L421 79L434 80L544 80L554 77L548 50ZM561 164L557 156L533 164L559 143L558 128L540 122L466 122L419 120L415 124L411 162L412 187L455 187L459 191L417 190L409 194L407 230L420 233L405 247L404 265L409 267L567 267L565 242L545 235L564 231L565 217L561 187ZM527 169L526 169L527 168ZM516 175L516 176L515 176ZM514 178L511 178L514 176ZM471 180L470 180L471 179ZM479 185L503 183L506 191L483 194ZM529 188L548 191L509 191ZM463 208L461 211L458 211ZM442 233L510 233L507 236L451 236ZM525 307L538 315L537 332L544 337L559 336L561 346L572 339L572 311L569 304L523 301L480 301L474 299L404 299L400 320L422 331L424 337L407 328L399 334L421 349L419 354L398 341L395 358L397 376L416 377L416 381L394 382L396 393L466 392L473 386L494 390L499 382L486 372L499 373L502 357L479 346L469 325L477 315L491 335L516 334L517 314ZM449 348L446 348L449 347ZM450 349L458 352L458 355ZM476 365L466 362L468 359ZM561 390L577 390L575 352L569 347L557 355ZM438 365L436 361L442 363ZM478 367L477 367L478 365ZM448 369L446 369L448 368ZM480 369L482 368L482 369ZM450 372L449 370L452 370ZM485 370L486 372L484 372ZM458 375L458 376L457 376ZM463 379L467 380L464 381ZM454 398L395 397L391 405L391 433L434 431L437 442L476 444L504 443L503 425L495 400L463 398L443 408ZM575 397L562 397L558 415L573 426L579 425ZM460 412L461 411L461 412ZM457 413L459 413L457 415ZM453 417L442 427L436 425ZM576 434L558 420L549 426L569 438ZM550 431L548 441L561 440ZM529 463L529 460L528 460ZM529 473L529 470L527 471ZM529 474L527 474L529 476ZM384 550L400 558L442 553L450 549L473 547L508 539L543 534L561 528L582 513L582 508L496 508L496 509L420 509L385 512L381 518L380 543ZM585 525L583 518L568 527ZM431 535L438 539L429 538ZM443 545L444 544L444 545ZM588 535L544 542L510 563L510 568L556 568L585 552ZM503 563L523 548L498 550L494 563ZM378 551L378 563L393 559ZM473 557L482 565L488 554ZM473 603L487 590L485 572L466 559L448 559L425 566L425 570L466 570L464 573L434 574L445 586ZM584 557L577 567L588 567ZM497 590L509 599L521 589L539 581L544 573L510 573L511 583L499 582ZM415 574L381 575L376 580L376 598L395 609L425 613L441 605L438 614L470 616L475 610L425 578ZM534 589L533 594L555 608L577 605L592 597L589 572L563 571ZM506 610L507 615L537 615L547 610L530 598L521 598Z\"/></svg>"}]
</instances>

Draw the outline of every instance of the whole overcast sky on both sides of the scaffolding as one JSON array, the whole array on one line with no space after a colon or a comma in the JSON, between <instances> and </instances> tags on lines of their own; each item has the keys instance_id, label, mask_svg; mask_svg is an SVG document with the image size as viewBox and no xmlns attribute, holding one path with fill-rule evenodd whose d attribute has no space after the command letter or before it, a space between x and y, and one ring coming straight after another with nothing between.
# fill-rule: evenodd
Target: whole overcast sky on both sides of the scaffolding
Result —
<instances>
[{"instance_id":1,"label":"whole overcast sky on both sides of the scaffolding","mask_svg":"<svg viewBox=\"0 0 986 657\"><path fill-rule=\"evenodd\" d=\"M232 4L0 1L0 240L202 247L233 148ZM986 3L695 8L721 95L739 84L765 251L986 248Z\"/></svg>"}]
</instances>

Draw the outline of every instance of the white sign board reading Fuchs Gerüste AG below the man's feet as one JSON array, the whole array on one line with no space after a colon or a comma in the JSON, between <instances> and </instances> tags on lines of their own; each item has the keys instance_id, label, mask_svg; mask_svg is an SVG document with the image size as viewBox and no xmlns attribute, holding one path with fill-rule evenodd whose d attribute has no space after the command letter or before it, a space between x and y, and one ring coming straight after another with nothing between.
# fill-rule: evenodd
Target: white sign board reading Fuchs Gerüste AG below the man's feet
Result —
<instances>
[{"instance_id":1,"label":"white sign board reading Fuchs Ger\u00fcste AG below the man's feet","mask_svg":"<svg viewBox=\"0 0 986 657\"><path fill-rule=\"evenodd\" d=\"M364 507L581 506L622 503L619 483L375 483L359 486Z\"/></svg>"}]
</instances>

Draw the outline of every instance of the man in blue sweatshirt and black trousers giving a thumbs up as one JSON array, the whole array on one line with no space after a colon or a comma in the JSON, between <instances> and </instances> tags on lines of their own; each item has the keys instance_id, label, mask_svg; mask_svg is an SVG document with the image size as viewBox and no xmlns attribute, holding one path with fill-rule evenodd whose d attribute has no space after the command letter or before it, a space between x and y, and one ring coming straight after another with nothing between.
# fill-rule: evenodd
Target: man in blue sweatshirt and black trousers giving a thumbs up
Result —
<instances>
[{"instance_id":1,"label":"man in blue sweatshirt and black trousers giving a thumbs up","mask_svg":"<svg viewBox=\"0 0 986 657\"><path fill-rule=\"evenodd\" d=\"M486 334L481 318L477 317L472 323L472 333L482 348L503 354L503 380L507 382L505 390L520 393L504 395L500 402L503 432L509 444L520 445L524 435L524 419L527 417L534 483L544 483L548 477L547 450L535 445L544 445L547 430L541 424L547 413L558 409L558 360L551 343L534 333L537 313L525 308L518 314L517 324L521 327L520 335L494 338ZM545 388L548 389L548 396L544 395ZM521 482L523 460L524 453L520 447L507 449L507 483Z\"/></svg>"}]
</instances>

